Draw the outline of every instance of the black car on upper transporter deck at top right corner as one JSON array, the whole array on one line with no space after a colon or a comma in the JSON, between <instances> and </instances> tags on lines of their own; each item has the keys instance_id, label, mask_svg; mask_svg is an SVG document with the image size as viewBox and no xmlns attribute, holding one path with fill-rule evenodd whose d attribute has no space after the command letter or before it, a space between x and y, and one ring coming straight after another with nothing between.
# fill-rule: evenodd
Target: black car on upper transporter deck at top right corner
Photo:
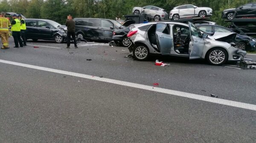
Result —
<instances>
[{"instance_id":1,"label":"black car on upper transporter deck at top right corner","mask_svg":"<svg viewBox=\"0 0 256 143\"><path fill-rule=\"evenodd\" d=\"M247 3L238 8L226 9L222 12L222 17L227 20L241 17L256 17L256 3Z\"/></svg>"}]
</instances>

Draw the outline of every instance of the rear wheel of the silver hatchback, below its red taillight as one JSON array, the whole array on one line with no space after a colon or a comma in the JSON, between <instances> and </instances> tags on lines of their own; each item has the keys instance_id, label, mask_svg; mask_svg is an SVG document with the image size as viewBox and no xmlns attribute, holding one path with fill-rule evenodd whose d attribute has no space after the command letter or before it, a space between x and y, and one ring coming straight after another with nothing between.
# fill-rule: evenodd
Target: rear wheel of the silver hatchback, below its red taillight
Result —
<instances>
[{"instance_id":1,"label":"rear wheel of the silver hatchback, below its red taillight","mask_svg":"<svg viewBox=\"0 0 256 143\"><path fill-rule=\"evenodd\" d=\"M149 56L148 47L143 44L136 45L133 49L133 56L138 61L145 61Z\"/></svg>"}]
</instances>

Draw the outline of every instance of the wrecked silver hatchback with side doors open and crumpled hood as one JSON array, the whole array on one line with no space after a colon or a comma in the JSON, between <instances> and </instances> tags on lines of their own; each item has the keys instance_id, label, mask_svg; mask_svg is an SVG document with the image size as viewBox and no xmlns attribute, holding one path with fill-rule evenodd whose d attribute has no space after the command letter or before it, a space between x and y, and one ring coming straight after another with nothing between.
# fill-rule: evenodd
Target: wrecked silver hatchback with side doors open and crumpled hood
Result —
<instances>
[{"instance_id":1,"label":"wrecked silver hatchback with side doors open and crumpled hood","mask_svg":"<svg viewBox=\"0 0 256 143\"><path fill-rule=\"evenodd\" d=\"M217 41L189 22L151 22L131 27L127 35L133 43L128 47L133 56L143 61L150 54L206 59L209 64L222 65L239 61L246 55L228 42ZM223 37L224 38L224 37ZM225 38L224 38L225 39Z\"/></svg>"}]
</instances>

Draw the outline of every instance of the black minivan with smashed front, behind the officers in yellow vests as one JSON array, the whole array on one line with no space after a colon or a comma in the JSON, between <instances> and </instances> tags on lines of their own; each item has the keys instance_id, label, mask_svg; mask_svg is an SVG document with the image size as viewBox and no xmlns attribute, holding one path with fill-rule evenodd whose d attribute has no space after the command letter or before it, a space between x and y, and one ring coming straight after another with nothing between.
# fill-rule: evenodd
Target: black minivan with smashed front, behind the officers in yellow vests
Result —
<instances>
[{"instance_id":1,"label":"black minivan with smashed front, behind the officers in yellow vests","mask_svg":"<svg viewBox=\"0 0 256 143\"><path fill-rule=\"evenodd\" d=\"M25 19L26 38L37 41L54 40L57 43L64 42L67 37L67 27L52 20Z\"/></svg>"}]
</instances>

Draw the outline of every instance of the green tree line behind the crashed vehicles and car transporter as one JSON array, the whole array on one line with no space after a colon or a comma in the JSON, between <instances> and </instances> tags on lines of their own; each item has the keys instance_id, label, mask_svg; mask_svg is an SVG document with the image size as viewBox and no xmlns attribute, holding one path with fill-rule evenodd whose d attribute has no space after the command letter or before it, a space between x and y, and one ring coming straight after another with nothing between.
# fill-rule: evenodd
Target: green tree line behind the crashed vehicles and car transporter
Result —
<instances>
[{"instance_id":1,"label":"green tree line behind the crashed vehicles and car transporter","mask_svg":"<svg viewBox=\"0 0 256 143\"><path fill-rule=\"evenodd\" d=\"M26 18L49 19L64 24L69 14L73 17L122 19L123 15L131 14L135 6L157 6L169 13L176 6L193 4L212 8L211 20L226 26L227 23L221 18L224 9L251 2L256 0L1 0L0 11L16 12Z\"/></svg>"}]
</instances>

